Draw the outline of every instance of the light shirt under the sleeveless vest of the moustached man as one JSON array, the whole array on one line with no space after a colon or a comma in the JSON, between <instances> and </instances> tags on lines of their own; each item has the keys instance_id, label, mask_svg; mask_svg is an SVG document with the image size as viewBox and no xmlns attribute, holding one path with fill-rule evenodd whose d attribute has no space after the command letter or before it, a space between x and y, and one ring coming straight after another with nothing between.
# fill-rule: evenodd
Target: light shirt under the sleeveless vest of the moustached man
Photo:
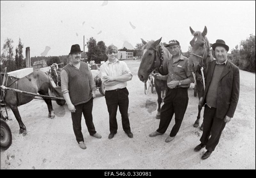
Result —
<instances>
[{"instance_id":1,"label":"light shirt under the sleeveless vest of the moustached man","mask_svg":"<svg viewBox=\"0 0 256 178\"><path fill-rule=\"evenodd\" d=\"M72 67L76 68L70 61L69 64L67 65L71 65ZM76 70L79 70L76 68ZM96 90L96 85L94 82L94 78L92 78L92 72L90 70L90 68L88 67L88 76L89 76L89 85L91 90ZM60 79L61 79L61 92L64 93L68 93L68 72L66 70L61 70L60 72Z\"/></svg>"}]
</instances>

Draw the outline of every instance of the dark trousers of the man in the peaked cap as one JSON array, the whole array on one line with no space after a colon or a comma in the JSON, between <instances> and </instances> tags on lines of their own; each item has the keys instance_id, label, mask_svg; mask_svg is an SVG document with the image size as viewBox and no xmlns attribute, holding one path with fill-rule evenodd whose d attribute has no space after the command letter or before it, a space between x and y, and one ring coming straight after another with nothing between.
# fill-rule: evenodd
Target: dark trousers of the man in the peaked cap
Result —
<instances>
[{"instance_id":1,"label":"dark trousers of the man in the peaked cap","mask_svg":"<svg viewBox=\"0 0 256 178\"><path fill-rule=\"evenodd\" d=\"M167 130L173 114L175 114L175 124L172 127L170 137L176 136L187 106L188 88L167 88L164 97L164 105L161 108L159 128L156 131L163 134Z\"/></svg>"}]
</instances>

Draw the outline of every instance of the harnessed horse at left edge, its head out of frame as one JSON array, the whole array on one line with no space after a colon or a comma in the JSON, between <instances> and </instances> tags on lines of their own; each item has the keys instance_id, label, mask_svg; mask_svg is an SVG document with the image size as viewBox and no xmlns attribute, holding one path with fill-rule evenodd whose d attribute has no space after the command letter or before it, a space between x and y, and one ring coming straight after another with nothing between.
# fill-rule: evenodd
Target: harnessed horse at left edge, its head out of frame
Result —
<instances>
[{"instance_id":1,"label":"harnessed horse at left edge, its head out of frame","mask_svg":"<svg viewBox=\"0 0 256 178\"><path fill-rule=\"evenodd\" d=\"M34 71L23 78L15 78L8 75L4 81L3 79L4 73L1 73L1 85L4 85L8 88L14 88L30 93L39 93L41 95L47 96L49 96L48 89L50 89L50 91L57 97L63 97L63 95L52 86L48 75L42 71ZM35 98L35 96L25 93L18 93L7 89L5 89L4 92L1 90L1 95L4 96L3 100L5 104L12 109L12 112L20 125L20 134L22 133L23 136L25 136L27 134L27 129L21 120L18 106L30 102ZM55 114L52 108L52 100L49 98L44 98L44 101L48 107L48 117L53 119ZM60 100L60 102L65 103L64 101L65 100Z\"/></svg>"}]
</instances>

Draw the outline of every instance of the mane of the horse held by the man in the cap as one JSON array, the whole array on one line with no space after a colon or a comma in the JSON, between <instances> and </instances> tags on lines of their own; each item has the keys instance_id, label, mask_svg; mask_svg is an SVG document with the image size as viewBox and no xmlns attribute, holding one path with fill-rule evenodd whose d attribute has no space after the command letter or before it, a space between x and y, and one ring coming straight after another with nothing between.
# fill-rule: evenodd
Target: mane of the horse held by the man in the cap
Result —
<instances>
[{"instance_id":1,"label":"mane of the horse held by the man in the cap","mask_svg":"<svg viewBox=\"0 0 256 178\"><path fill-rule=\"evenodd\" d=\"M154 43L155 41L151 40L151 41L148 41L142 48L141 48L141 56L143 56L143 51L146 49L148 50L152 44ZM168 51L167 48L164 47L163 43L160 43L157 47L161 46L162 49L163 49L163 70L164 71L168 71L168 61L170 59L170 52ZM157 57L159 57L159 54L160 54L160 51L159 51L159 48L156 47L156 54L157 54ZM165 72L164 72L165 73Z\"/></svg>"}]
</instances>

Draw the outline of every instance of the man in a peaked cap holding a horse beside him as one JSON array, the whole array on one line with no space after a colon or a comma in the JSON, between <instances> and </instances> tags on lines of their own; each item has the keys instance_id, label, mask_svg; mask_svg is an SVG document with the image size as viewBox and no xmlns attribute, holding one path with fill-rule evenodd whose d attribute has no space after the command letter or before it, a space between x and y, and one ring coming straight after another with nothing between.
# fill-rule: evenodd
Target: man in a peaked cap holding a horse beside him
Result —
<instances>
[{"instance_id":1,"label":"man in a peaked cap holding a horse beside him","mask_svg":"<svg viewBox=\"0 0 256 178\"><path fill-rule=\"evenodd\" d=\"M188 106L188 88L190 83L194 82L194 78L188 69L188 58L180 54L179 41L171 40L165 47L172 54L172 58L168 63L168 75L162 76L156 73L154 76L158 79L167 80L168 88L165 92L164 105L161 108L159 127L149 136L155 137L164 134L173 114L175 114L175 124L170 135L165 139L165 142L170 142L180 129Z\"/></svg>"}]
</instances>

